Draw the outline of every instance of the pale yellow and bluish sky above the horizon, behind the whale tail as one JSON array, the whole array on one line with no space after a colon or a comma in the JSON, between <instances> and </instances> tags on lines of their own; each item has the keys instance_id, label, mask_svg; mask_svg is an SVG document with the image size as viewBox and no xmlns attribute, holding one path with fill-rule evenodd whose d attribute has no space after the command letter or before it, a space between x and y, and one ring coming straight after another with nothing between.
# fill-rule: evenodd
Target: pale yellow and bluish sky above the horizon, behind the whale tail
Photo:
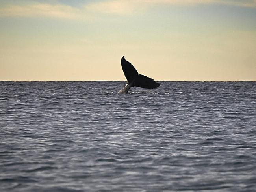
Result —
<instances>
[{"instance_id":1,"label":"pale yellow and bluish sky above the horizon, behind the whale tail","mask_svg":"<svg viewBox=\"0 0 256 192\"><path fill-rule=\"evenodd\" d=\"M0 81L256 81L256 0L0 0Z\"/></svg>"}]
</instances>

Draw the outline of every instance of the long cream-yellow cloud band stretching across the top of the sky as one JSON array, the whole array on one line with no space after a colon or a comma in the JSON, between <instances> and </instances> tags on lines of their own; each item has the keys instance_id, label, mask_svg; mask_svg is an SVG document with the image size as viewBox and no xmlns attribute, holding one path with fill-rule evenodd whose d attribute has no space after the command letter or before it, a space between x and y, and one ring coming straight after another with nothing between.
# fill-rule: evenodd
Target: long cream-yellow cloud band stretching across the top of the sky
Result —
<instances>
[{"instance_id":1,"label":"long cream-yellow cloud band stretching across the top of the sky","mask_svg":"<svg viewBox=\"0 0 256 192\"><path fill-rule=\"evenodd\" d=\"M20 3L22 2L22 3ZM228 6L256 8L256 0L105 0L72 7L53 1L54 4L37 1L7 1L0 7L0 17L43 16L54 18L90 18L93 14L132 15L143 13L156 5L195 6L203 4L222 4ZM86 2L86 1L85 1Z\"/></svg>"}]
</instances>

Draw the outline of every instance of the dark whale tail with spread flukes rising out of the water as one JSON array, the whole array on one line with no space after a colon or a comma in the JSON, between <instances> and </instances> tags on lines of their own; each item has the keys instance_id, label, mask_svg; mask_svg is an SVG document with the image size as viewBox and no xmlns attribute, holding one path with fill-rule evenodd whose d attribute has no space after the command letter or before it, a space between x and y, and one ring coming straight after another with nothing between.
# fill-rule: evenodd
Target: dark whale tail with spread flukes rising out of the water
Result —
<instances>
[{"instance_id":1,"label":"dark whale tail with spread flukes rising out of the water","mask_svg":"<svg viewBox=\"0 0 256 192\"><path fill-rule=\"evenodd\" d=\"M134 86L148 89L159 87L160 83L156 83L153 79L139 74L132 63L125 60L124 56L121 59L121 66L127 79L127 84L118 93L127 93Z\"/></svg>"}]
</instances>

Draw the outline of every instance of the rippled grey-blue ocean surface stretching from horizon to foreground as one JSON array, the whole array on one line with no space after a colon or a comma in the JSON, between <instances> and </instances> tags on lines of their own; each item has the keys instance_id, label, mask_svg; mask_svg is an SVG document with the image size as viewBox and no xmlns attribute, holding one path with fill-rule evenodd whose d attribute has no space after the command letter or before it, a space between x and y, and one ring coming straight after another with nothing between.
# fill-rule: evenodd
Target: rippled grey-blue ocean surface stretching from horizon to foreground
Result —
<instances>
[{"instance_id":1,"label":"rippled grey-blue ocean surface stretching from horizon to foreground","mask_svg":"<svg viewBox=\"0 0 256 192\"><path fill-rule=\"evenodd\" d=\"M0 82L0 192L255 192L256 82Z\"/></svg>"}]
</instances>

